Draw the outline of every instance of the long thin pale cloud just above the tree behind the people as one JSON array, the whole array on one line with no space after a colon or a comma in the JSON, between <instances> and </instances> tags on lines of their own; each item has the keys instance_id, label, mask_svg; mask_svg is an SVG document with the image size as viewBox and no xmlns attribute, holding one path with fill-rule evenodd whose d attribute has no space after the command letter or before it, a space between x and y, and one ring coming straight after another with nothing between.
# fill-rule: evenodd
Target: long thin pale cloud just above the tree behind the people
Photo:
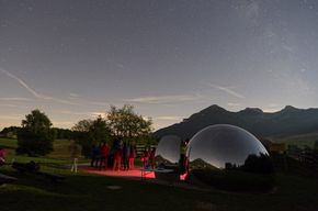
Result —
<instances>
[{"instance_id":1,"label":"long thin pale cloud just above the tree behind the people","mask_svg":"<svg viewBox=\"0 0 318 211\"><path fill-rule=\"evenodd\" d=\"M160 96L160 97L144 97L144 98L133 98L133 99L126 99L123 101L129 101L129 102L143 102L143 103L167 103L167 102L181 102L181 101L193 101L193 100L200 100L203 99L203 96L201 95L184 95L184 96Z\"/></svg>"}]
</instances>

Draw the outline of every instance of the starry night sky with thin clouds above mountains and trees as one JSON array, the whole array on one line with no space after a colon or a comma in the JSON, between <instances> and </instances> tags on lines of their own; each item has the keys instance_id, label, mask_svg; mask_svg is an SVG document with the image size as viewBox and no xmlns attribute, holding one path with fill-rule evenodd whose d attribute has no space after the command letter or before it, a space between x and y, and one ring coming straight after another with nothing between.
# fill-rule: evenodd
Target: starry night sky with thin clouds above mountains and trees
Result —
<instances>
[{"instance_id":1,"label":"starry night sky with thin clouds above mountains and trees","mask_svg":"<svg viewBox=\"0 0 318 211\"><path fill-rule=\"evenodd\" d=\"M1 0L0 130L133 104L155 130L212 104L317 108L317 0Z\"/></svg>"}]
</instances>

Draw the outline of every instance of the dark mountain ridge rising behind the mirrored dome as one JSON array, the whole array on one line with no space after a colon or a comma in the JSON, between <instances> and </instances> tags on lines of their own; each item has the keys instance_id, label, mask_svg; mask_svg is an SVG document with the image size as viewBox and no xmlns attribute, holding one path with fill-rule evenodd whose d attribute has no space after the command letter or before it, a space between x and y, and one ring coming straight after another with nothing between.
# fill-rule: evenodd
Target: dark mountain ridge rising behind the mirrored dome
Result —
<instances>
[{"instance_id":1,"label":"dark mountain ridge rising behind the mirrored dome","mask_svg":"<svg viewBox=\"0 0 318 211\"><path fill-rule=\"evenodd\" d=\"M191 138L202 129L214 124L237 125L254 136L311 133L318 131L318 109L297 109L286 106L274 113L266 113L258 108L230 112L213 104L180 123L154 132L152 135L178 135L181 138Z\"/></svg>"}]
</instances>

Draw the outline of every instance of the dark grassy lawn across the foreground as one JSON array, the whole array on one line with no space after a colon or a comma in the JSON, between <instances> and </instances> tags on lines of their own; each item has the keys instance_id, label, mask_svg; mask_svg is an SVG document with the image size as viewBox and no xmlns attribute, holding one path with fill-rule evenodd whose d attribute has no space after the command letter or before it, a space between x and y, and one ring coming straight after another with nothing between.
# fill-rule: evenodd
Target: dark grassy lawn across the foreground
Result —
<instances>
[{"instance_id":1,"label":"dark grassy lawn across the foreground","mask_svg":"<svg viewBox=\"0 0 318 211\"><path fill-rule=\"evenodd\" d=\"M66 141L68 142L68 141ZM2 143L1 143L2 144ZM58 146L60 143L58 144ZM66 144L67 145L67 144ZM30 158L9 155L20 162L37 159L41 170L66 176L65 181L52 184L37 176L18 174L11 166L0 173L19 178L14 185L0 188L2 210L317 210L318 171L293 158L274 154L275 187L269 195L238 195L198 191L147 184L90 173L70 173L63 167L66 159ZM112 190L109 186L120 186Z\"/></svg>"}]
</instances>

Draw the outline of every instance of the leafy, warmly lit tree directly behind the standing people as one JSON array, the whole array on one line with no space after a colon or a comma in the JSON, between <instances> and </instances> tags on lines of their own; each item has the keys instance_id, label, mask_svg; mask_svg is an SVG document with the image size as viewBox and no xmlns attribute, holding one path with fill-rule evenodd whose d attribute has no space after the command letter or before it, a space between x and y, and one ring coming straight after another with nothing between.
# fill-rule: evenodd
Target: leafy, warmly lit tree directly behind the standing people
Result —
<instances>
[{"instance_id":1,"label":"leafy, warmly lit tree directly behind the standing people","mask_svg":"<svg viewBox=\"0 0 318 211\"><path fill-rule=\"evenodd\" d=\"M134 112L134 107L125 104L122 109L111 106L106 113L107 125L113 136L122 137L124 141L133 144L138 138L150 137L152 132L152 119L144 119Z\"/></svg>"}]
</instances>

